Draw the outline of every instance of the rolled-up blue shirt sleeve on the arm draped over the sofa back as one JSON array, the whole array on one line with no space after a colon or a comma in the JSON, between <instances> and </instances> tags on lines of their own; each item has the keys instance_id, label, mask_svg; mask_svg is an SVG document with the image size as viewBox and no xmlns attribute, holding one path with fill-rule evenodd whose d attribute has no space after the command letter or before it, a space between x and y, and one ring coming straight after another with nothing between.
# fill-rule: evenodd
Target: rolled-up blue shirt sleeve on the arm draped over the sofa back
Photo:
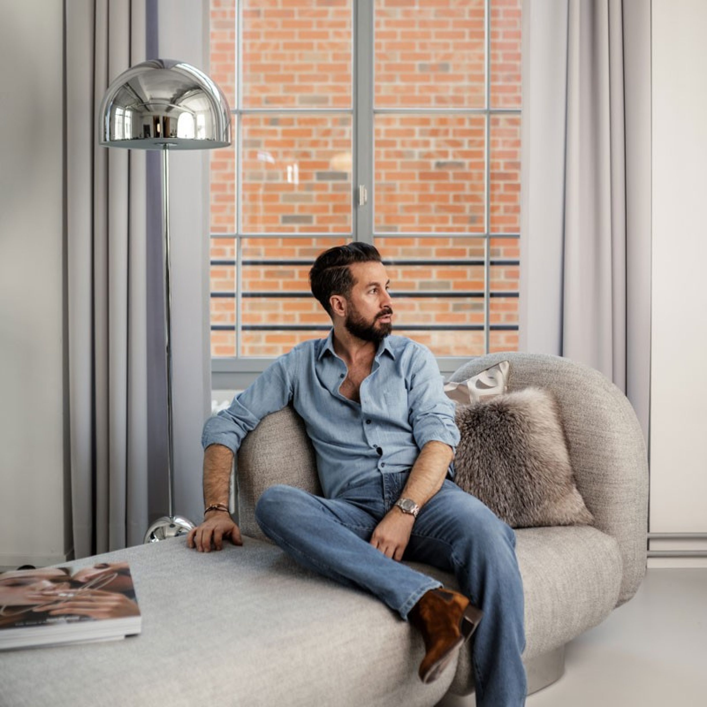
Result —
<instances>
[{"instance_id":1,"label":"rolled-up blue shirt sleeve on the arm draped over the sofa back","mask_svg":"<svg viewBox=\"0 0 707 707\"><path fill-rule=\"evenodd\" d=\"M246 390L233 398L230 406L211 416L204 424L201 445L228 447L234 454L243 438L266 415L286 406L293 396L297 377L298 350L293 349L271 364Z\"/></svg>"}]
</instances>

